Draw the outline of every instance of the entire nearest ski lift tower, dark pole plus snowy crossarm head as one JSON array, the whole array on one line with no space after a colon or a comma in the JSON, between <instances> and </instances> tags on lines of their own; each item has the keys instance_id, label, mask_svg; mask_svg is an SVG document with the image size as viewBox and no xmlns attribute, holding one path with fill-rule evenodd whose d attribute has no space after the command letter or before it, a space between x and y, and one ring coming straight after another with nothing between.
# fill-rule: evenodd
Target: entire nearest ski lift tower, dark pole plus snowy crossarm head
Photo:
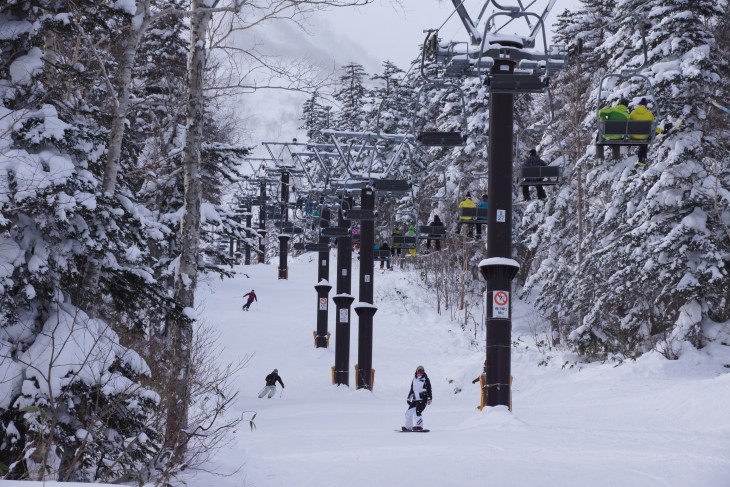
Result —
<instances>
[{"instance_id":1,"label":"entire nearest ski lift tower, dark pole plus snowy crossarm head","mask_svg":"<svg viewBox=\"0 0 730 487\"><path fill-rule=\"evenodd\" d=\"M556 0L535 0L527 7L503 5L507 0L485 1L476 22L463 0L452 0L469 42L442 43L438 32L428 31L424 55L435 57L440 76L478 76L489 90L489 225L487 258L479 270L487 281L486 392L487 406L511 409L512 279L519 264L512 258L512 147L514 97L543 93L550 77L566 58L563 46L548 46L544 21ZM528 11L544 5L541 14ZM518 25L519 24L519 25ZM507 26L528 32L506 34ZM542 49L535 49L538 35Z\"/></svg>"}]
</instances>

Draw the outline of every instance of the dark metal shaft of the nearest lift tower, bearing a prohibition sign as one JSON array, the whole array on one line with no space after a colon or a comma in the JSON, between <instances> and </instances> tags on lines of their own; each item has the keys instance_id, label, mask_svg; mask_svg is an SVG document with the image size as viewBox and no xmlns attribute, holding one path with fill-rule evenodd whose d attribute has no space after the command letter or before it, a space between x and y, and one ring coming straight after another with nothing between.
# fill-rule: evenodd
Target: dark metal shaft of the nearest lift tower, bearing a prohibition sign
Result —
<instances>
[{"instance_id":1,"label":"dark metal shaft of the nearest lift tower, bearing a prohibition sign","mask_svg":"<svg viewBox=\"0 0 730 487\"><path fill-rule=\"evenodd\" d=\"M514 71L514 62L495 61L493 72ZM514 94L489 96L489 225L487 259L487 405L510 406L512 319L510 295L516 273L512 260L512 143Z\"/></svg>"}]
</instances>

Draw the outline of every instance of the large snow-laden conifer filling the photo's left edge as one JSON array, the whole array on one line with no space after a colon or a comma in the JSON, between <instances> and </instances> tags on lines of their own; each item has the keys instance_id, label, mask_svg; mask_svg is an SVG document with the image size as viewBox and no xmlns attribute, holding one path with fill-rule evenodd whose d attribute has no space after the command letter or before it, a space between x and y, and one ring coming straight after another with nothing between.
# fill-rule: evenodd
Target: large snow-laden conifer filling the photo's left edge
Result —
<instances>
[{"instance_id":1,"label":"large snow-laden conifer filling the photo's left edge","mask_svg":"<svg viewBox=\"0 0 730 487\"><path fill-rule=\"evenodd\" d=\"M15 478L115 480L144 468L159 451L159 432L149 421L157 400L141 385L149 370L109 322L77 307L88 291L79 276L102 246L111 276L100 282L106 307L129 311L166 302L148 279L145 231L125 216L141 209L98 194L107 132L105 97L95 92L103 84L94 71L104 56L72 41L80 12L90 24L96 14L110 24L124 14L77 7L18 2L0 20L16 32L0 40L8 54L0 68L0 367L14 371L0 402L0 463L12 465L8 475ZM63 20L73 16L79 23ZM144 292L129 292L142 283ZM61 363L61 350L78 360ZM139 441L126 443L130 437ZM26 461L31 449L35 463ZM117 462L104 465L111 457Z\"/></svg>"}]
</instances>

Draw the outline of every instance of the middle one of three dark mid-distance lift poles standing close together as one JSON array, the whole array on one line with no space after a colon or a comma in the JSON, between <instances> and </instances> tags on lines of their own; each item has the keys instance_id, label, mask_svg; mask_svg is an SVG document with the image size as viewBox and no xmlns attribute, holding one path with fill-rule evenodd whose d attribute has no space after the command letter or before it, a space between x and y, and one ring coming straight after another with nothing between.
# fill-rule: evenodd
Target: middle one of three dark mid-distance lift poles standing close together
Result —
<instances>
[{"instance_id":1,"label":"middle one of three dark mid-distance lift poles standing close together","mask_svg":"<svg viewBox=\"0 0 730 487\"><path fill-rule=\"evenodd\" d=\"M352 205L352 199L347 200ZM350 228L349 220L342 216L342 206L338 211L338 226ZM335 366L334 383L350 385L350 306L355 298L352 291L352 237L337 237L337 294L335 302Z\"/></svg>"}]
</instances>

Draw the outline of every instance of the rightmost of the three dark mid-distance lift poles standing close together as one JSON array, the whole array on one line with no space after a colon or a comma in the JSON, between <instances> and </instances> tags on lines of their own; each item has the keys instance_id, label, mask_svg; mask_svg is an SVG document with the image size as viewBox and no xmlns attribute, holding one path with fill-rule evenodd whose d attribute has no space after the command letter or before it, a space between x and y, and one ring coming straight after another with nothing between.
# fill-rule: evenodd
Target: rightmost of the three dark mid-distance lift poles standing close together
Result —
<instances>
[{"instance_id":1,"label":"rightmost of the three dark mid-distance lift poles standing close together","mask_svg":"<svg viewBox=\"0 0 730 487\"><path fill-rule=\"evenodd\" d=\"M360 207L363 211L375 210L373 188L363 188ZM355 307L358 316L357 388L371 390L373 388L373 316L378 310L373 305L374 246L375 222L362 220L360 222L360 304Z\"/></svg>"}]
</instances>

